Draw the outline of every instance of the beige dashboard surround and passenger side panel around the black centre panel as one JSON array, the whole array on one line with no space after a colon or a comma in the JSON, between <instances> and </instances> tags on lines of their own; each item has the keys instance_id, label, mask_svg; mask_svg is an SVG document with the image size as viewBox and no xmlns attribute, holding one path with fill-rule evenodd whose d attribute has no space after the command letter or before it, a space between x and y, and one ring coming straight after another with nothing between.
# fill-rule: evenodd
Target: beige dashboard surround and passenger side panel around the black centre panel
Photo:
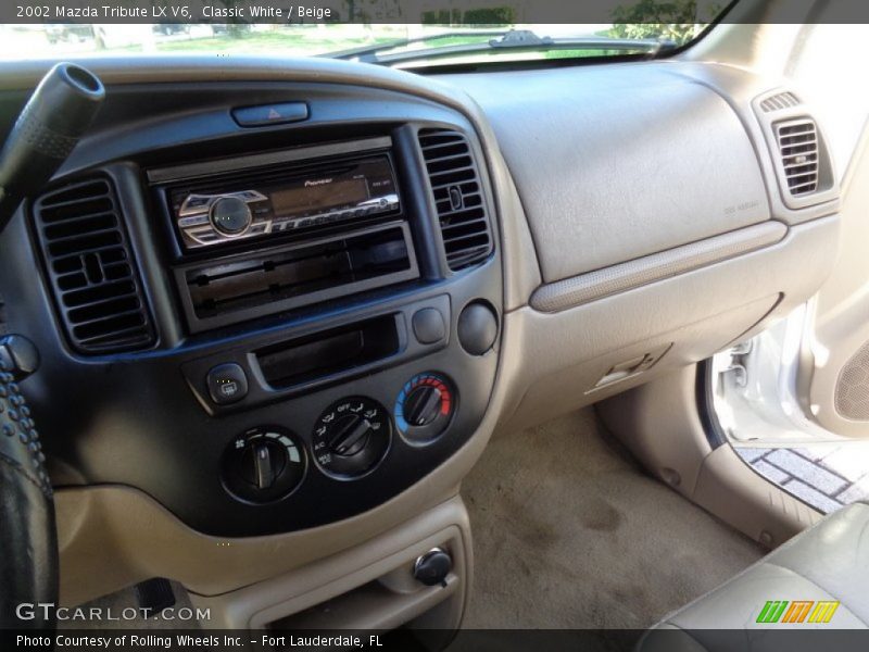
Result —
<instances>
[{"instance_id":1,"label":"beige dashboard surround and passenger side panel around the black centre panel","mask_svg":"<svg viewBox=\"0 0 869 652\"><path fill-rule=\"evenodd\" d=\"M473 573L458 492L490 437L747 337L811 296L836 250L835 186L789 208L770 147L773 123L810 108L758 112L778 83L726 66L647 62L440 78L326 60L92 67L108 85L363 86L461 112L480 138L493 187L504 314L481 427L446 463L366 513L290 534L221 538L129 487L58 491L65 604L160 576L213 606L221 617L212 626L293 617L299 626L320 623L316 604L361 600L356 591L375 582L381 607L368 623L406 622L442 602L440 623L457 624ZM4 75L2 85L21 87L37 68ZM407 565L432 546L458 560L440 598L402 585Z\"/></svg>"}]
</instances>

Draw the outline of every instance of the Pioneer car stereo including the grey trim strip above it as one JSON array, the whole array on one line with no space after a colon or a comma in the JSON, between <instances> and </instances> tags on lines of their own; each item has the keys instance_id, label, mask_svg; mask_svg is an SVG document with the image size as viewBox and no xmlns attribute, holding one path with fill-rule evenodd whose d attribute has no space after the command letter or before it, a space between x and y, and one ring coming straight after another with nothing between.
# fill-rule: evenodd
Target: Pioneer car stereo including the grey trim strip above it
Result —
<instances>
[{"instance_id":1,"label":"Pioneer car stereo including the grey trim strip above it","mask_svg":"<svg viewBox=\"0 0 869 652\"><path fill-rule=\"evenodd\" d=\"M390 137L148 171L176 255L269 236L364 226L402 211Z\"/></svg>"}]
</instances>

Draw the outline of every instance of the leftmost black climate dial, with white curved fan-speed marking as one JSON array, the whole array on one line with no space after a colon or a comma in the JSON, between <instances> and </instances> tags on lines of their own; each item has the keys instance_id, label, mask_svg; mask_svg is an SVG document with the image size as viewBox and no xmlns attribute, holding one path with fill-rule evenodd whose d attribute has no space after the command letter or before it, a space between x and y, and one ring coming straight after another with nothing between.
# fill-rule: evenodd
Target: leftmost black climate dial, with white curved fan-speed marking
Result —
<instances>
[{"instance_id":1,"label":"leftmost black climate dial, with white curved fan-speed marking","mask_svg":"<svg viewBox=\"0 0 869 652\"><path fill-rule=\"evenodd\" d=\"M240 435L224 454L224 486L249 502L288 496L305 474L304 449L284 428L253 428Z\"/></svg>"}]
</instances>

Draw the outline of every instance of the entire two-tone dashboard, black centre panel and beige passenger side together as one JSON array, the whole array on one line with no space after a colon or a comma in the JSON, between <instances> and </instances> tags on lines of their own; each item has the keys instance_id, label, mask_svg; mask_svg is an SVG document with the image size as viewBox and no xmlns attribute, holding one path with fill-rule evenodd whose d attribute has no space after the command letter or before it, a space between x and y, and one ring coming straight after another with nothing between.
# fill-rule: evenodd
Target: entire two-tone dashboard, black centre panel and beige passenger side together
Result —
<instances>
[{"instance_id":1,"label":"entire two-tone dashboard, black centre panel and beige passenger side together","mask_svg":"<svg viewBox=\"0 0 869 652\"><path fill-rule=\"evenodd\" d=\"M3 64L7 128L47 65ZM105 104L0 237L68 602L158 570L217 594L388 532L493 432L705 359L834 256L821 127L744 71L85 65ZM810 191L783 149L807 130ZM95 524L153 538L76 585Z\"/></svg>"}]
</instances>

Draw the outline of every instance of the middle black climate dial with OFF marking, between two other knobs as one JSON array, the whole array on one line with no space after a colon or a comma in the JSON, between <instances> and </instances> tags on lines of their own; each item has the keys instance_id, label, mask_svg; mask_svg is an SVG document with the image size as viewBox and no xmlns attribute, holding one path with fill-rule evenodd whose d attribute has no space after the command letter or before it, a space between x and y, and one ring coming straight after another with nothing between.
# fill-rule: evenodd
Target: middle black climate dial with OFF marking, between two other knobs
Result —
<instances>
[{"instance_id":1,"label":"middle black climate dial with OFF marking, between two other knobs","mask_svg":"<svg viewBox=\"0 0 869 652\"><path fill-rule=\"evenodd\" d=\"M371 399L354 397L329 405L314 426L314 460L327 474L354 478L386 456L392 439L387 410Z\"/></svg>"}]
</instances>

